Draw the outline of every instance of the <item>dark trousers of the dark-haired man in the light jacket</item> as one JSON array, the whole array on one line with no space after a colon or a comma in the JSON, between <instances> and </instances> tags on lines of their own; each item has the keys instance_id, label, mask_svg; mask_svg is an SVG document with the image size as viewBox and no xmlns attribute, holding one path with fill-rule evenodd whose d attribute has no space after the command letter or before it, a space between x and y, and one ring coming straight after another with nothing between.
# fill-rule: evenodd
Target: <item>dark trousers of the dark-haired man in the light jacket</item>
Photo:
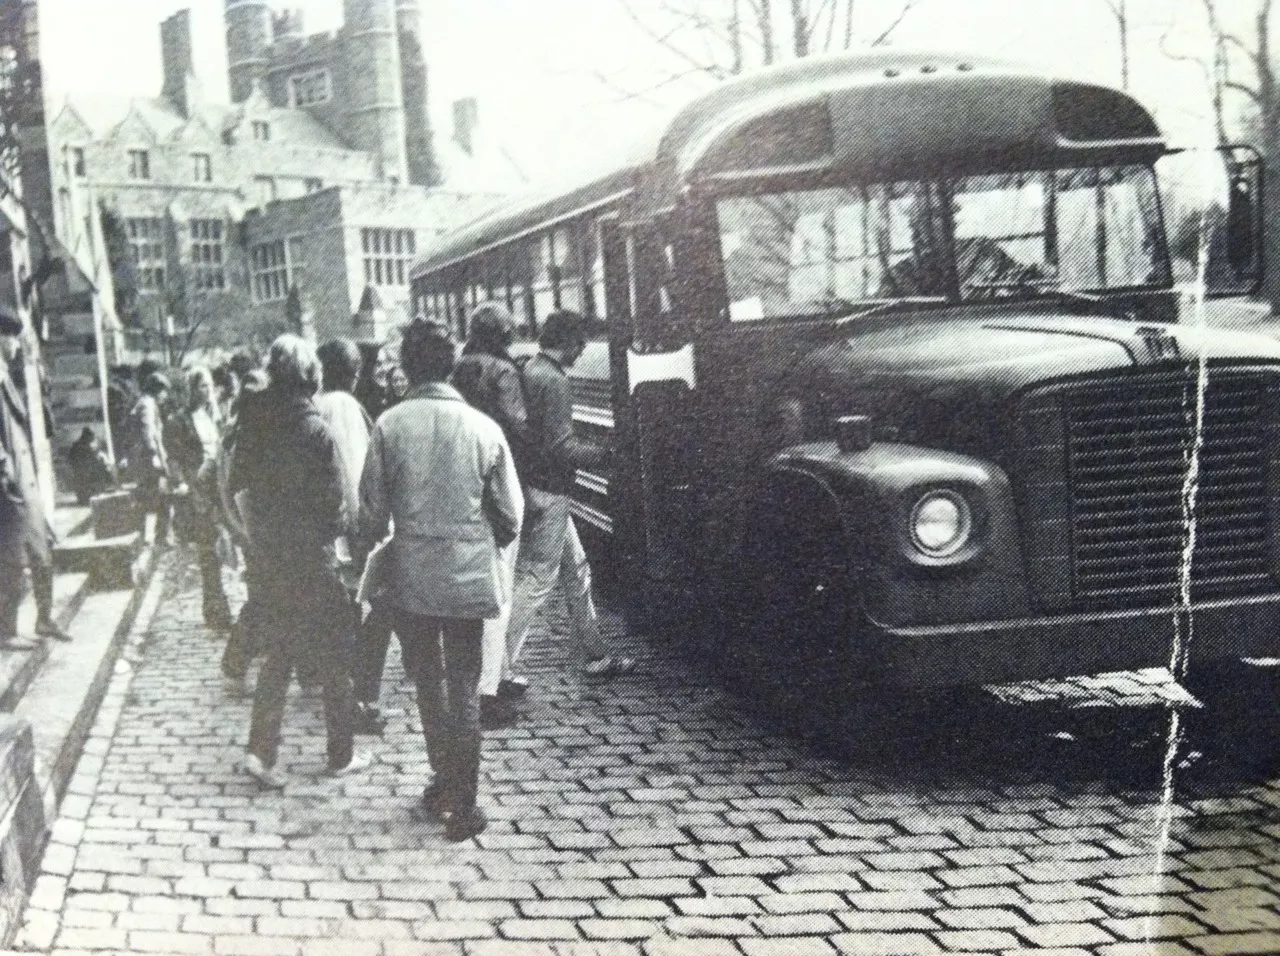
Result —
<instances>
[{"instance_id":1,"label":"dark trousers of the dark-haired man in the light jacket","mask_svg":"<svg viewBox=\"0 0 1280 956\"><path fill-rule=\"evenodd\" d=\"M417 687L417 713L431 769L448 808L475 809L480 785L480 665L484 621L396 610L404 667Z\"/></svg>"}]
</instances>

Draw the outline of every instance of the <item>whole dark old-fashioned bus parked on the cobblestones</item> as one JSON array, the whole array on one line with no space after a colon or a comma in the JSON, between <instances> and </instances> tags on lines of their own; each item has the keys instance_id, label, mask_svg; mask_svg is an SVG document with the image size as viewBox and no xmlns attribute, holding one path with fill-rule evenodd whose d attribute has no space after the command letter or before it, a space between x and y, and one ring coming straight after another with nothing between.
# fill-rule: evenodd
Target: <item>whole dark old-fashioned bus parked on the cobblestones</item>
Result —
<instances>
[{"instance_id":1,"label":"whole dark old-fashioned bus parked on the cobblestones","mask_svg":"<svg viewBox=\"0 0 1280 956\"><path fill-rule=\"evenodd\" d=\"M1171 152L1015 63L801 60L445 237L413 302L458 337L486 298L590 320L576 427L612 458L575 514L726 660L927 689L1276 657L1280 347L1180 321ZM1256 291L1261 164L1215 160L1206 274Z\"/></svg>"}]
</instances>

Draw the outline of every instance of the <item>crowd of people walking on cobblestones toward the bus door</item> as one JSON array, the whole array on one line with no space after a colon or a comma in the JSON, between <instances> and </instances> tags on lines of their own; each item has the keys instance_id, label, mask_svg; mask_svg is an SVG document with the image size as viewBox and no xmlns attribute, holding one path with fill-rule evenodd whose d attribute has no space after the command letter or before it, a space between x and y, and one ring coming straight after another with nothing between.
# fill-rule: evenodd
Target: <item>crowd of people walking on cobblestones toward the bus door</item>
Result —
<instances>
[{"instance_id":1,"label":"crowd of people walking on cobblestones toward the bus door","mask_svg":"<svg viewBox=\"0 0 1280 956\"><path fill-rule=\"evenodd\" d=\"M550 314L524 363L509 353L516 323L504 306L475 307L468 325L458 357L443 326L408 324L399 388L388 375L387 389L369 389L349 340L316 349L282 335L261 362L241 352L188 367L178 389L163 369L138 369L128 412L113 416L143 534L163 543L182 506L205 623L227 636L228 691L246 692L250 662L264 658L244 772L287 785L276 764L293 674L321 690L329 772L366 768L374 758L355 738L385 724L379 696L396 635L434 770L416 813L454 841L485 828L481 735L521 719L521 651L557 582L584 676L635 667L602 635L570 516L575 470L602 463L572 427L567 370L585 323ZM246 586L234 618L228 561Z\"/></svg>"}]
</instances>

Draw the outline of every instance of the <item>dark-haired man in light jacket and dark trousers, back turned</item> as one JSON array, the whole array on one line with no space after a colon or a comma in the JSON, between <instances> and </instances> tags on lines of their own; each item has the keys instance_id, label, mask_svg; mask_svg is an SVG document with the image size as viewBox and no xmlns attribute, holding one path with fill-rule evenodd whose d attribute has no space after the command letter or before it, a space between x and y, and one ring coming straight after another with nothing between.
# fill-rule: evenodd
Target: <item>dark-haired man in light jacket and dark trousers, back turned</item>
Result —
<instances>
[{"instance_id":1,"label":"dark-haired man in light jacket and dark trousers, back turned","mask_svg":"<svg viewBox=\"0 0 1280 956\"><path fill-rule=\"evenodd\" d=\"M439 326L406 328L401 365L410 390L374 425L360 530L370 544L394 522L385 600L435 770L421 806L457 842L486 825L476 800L481 640L484 619L500 610L500 549L520 535L524 497L502 429L447 384L453 363L453 343Z\"/></svg>"}]
</instances>

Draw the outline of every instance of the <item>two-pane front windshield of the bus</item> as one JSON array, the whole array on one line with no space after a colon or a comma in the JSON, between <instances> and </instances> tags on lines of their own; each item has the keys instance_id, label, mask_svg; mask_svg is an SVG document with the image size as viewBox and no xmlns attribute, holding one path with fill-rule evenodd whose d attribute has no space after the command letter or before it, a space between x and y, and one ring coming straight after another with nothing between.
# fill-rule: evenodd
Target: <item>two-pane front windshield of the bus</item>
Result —
<instances>
[{"instance_id":1,"label":"two-pane front windshield of the bus","mask_svg":"<svg viewBox=\"0 0 1280 956\"><path fill-rule=\"evenodd\" d=\"M735 196L717 215L735 321L1170 282L1142 165Z\"/></svg>"}]
</instances>

